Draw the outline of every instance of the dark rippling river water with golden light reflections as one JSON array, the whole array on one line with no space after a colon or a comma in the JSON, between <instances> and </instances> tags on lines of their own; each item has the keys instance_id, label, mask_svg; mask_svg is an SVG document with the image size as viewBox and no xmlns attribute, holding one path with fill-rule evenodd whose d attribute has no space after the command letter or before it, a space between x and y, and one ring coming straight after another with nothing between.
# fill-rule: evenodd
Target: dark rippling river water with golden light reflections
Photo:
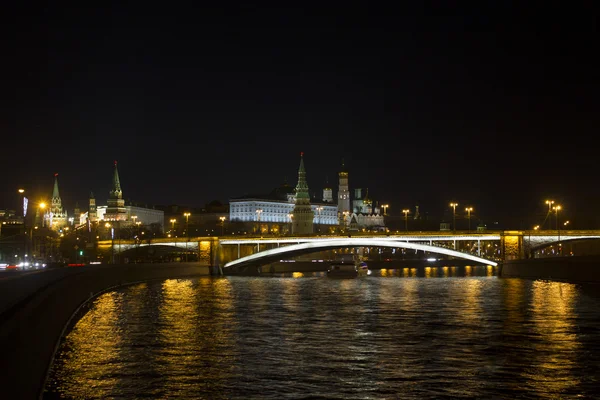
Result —
<instances>
[{"instance_id":1,"label":"dark rippling river water with golden light reflections","mask_svg":"<svg viewBox=\"0 0 600 400\"><path fill-rule=\"evenodd\" d=\"M599 286L452 268L105 293L63 338L44 399L598 398Z\"/></svg>"}]
</instances>

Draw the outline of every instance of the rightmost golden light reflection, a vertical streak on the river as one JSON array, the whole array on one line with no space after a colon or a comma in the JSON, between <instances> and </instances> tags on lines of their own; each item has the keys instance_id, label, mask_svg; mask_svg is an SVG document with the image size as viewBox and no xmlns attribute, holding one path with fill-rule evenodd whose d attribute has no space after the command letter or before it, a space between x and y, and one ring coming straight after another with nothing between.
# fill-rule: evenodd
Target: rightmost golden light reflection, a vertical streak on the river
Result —
<instances>
[{"instance_id":1,"label":"rightmost golden light reflection, a vertical streak on the river","mask_svg":"<svg viewBox=\"0 0 600 400\"><path fill-rule=\"evenodd\" d=\"M581 346L574 322L574 304L578 291L574 284L535 281L532 286L531 312L533 329L540 340L532 342L531 364L536 374L525 372L532 389L557 396L579 384L571 373L577 365Z\"/></svg>"}]
</instances>

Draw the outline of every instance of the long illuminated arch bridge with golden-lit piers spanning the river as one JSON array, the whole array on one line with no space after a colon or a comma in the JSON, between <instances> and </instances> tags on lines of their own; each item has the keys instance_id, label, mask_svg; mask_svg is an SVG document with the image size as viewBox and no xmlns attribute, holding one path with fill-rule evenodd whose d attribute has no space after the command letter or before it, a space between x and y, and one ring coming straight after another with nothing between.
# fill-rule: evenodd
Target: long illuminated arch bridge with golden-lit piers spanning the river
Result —
<instances>
[{"instance_id":1,"label":"long illuminated arch bridge with golden-lit piers spanning the river","mask_svg":"<svg viewBox=\"0 0 600 400\"><path fill-rule=\"evenodd\" d=\"M342 248L412 249L497 265L504 260L523 259L544 247L576 240L600 239L600 230L525 230L489 232L405 232L398 234L352 233L328 236L227 236L162 238L151 242L102 241L99 250L115 254L147 246L165 246L195 252L199 260L223 268L268 264L282 258Z\"/></svg>"}]
</instances>

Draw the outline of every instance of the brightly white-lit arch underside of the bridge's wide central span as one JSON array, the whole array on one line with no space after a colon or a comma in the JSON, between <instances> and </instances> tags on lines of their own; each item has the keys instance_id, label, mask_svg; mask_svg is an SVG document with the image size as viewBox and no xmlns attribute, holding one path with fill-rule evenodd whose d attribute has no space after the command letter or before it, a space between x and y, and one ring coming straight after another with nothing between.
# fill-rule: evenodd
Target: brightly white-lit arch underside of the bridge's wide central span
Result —
<instances>
[{"instance_id":1,"label":"brightly white-lit arch underside of the bridge's wide central span","mask_svg":"<svg viewBox=\"0 0 600 400\"><path fill-rule=\"evenodd\" d=\"M275 249L261 251L259 253L251 254L246 257L239 258L234 261L230 261L225 264L224 268L231 267L244 267L256 263L269 263L278 261L282 255L299 255L306 253L313 253L321 250L330 250L343 247L393 247L393 248L405 248L413 250L422 250L430 253L444 254L448 256L463 258L466 260L475 261L482 264L496 266L498 263L485 258L477 257L472 254L462 253L460 251L451 250L438 246L430 246L425 244L399 242L394 240L375 240L369 238L349 238L349 239L332 239L332 240L319 240L301 244L293 244L290 246L278 247Z\"/></svg>"}]
</instances>

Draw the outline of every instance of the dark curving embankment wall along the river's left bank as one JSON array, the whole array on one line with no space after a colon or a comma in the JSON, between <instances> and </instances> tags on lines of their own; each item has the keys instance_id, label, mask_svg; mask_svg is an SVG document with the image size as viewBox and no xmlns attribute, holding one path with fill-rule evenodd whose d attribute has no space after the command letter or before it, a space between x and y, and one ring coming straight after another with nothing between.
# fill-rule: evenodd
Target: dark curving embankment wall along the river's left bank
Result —
<instances>
[{"instance_id":1,"label":"dark curving embankment wall along the river's left bank","mask_svg":"<svg viewBox=\"0 0 600 400\"><path fill-rule=\"evenodd\" d=\"M0 398L41 398L55 349L88 300L121 285L210 275L200 263L94 265L0 279Z\"/></svg>"}]
</instances>

